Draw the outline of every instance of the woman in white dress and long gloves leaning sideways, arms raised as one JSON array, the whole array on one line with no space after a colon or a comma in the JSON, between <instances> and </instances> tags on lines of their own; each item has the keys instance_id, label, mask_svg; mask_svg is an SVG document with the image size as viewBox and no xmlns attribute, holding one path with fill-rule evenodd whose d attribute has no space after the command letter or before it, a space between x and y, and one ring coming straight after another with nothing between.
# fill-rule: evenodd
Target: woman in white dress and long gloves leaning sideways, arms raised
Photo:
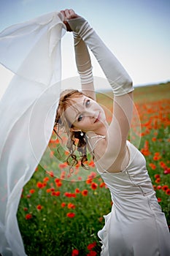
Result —
<instances>
[{"instance_id":1,"label":"woman in white dress and long gloves leaning sideways, arms raised","mask_svg":"<svg viewBox=\"0 0 170 256\"><path fill-rule=\"evenodd\" d=\"M74 32L83 94L75 90L61 94L55 129L66 129L71 165L77 161L75 139L79 140L82 166L88 146L98 173L111 192L112 211L98 232L101 255L170 255L169 230L152 189L145 159L127 140L133 110L131 78L84 18L73 10L61 13L67 30ZM86 45L96 56L114 93L111 124L107 124L104 110L96 102Z\"/></svg>"}]
</instances>

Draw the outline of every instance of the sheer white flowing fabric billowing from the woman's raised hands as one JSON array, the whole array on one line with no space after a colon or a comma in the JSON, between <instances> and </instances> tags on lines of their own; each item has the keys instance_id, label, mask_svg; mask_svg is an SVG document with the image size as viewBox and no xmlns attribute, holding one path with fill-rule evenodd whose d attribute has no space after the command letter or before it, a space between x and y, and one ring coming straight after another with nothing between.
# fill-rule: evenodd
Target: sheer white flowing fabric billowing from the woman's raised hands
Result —
<instances>
[{"instance_id":1,"label":"sheer white flowing fabric billowing from the woman's raised hands","mask_svg":"<svg viewBox=\"0 0 170 256\"><path fill-rule=\"evenodd\" d=\"M5 29L0 63L15 73L0 102L0 253L26 255L17 211L53 132L61 91L60 12Z\"/></svg>"}]
</instances>

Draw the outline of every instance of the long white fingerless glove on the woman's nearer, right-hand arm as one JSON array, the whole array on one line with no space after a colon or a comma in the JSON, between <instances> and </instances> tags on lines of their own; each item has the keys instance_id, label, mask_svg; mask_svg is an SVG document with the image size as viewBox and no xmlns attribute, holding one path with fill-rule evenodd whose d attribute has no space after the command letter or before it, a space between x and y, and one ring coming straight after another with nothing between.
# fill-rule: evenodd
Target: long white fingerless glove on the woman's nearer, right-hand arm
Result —
<instances>
[{"instance_id":1,"label":"long white fingerless glove on the woman's nearer, right-hand arm","mask_svg":"<svg viewBox=\"0 0 170 256\"><path fill-rule=\"evenodd\" d=\"M104 71L115 96L121 96L134 91L132 80L114 54L104 45L88 21L82 17L67 20L72 31L80 35L85 44L93 52Z\"/></svg>"}]
</instances>

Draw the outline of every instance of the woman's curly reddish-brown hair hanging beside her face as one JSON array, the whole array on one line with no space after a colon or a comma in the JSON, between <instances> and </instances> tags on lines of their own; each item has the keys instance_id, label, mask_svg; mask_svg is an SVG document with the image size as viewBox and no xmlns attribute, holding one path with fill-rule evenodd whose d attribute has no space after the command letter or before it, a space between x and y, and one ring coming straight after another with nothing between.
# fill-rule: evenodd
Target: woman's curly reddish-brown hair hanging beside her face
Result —
<instances>
[{"instance_id":1,"label":"woman's curly reddish-brown hair hanging beside her face","mask_svg":"<svg viewBox=\"0 0 170 256\"><path fill-rule=\"evenodd\" d=\"M74 89L67 89L63 91L60 95L58 109L55 116L54 132L58 135L59 138L61 138L59 135L60 130L65 132L68 136L66 147L69 149L70 154L67 157L66 162L70 166L70 169L78 163L77 155L74 154L76 150L80 153L81 166L87 169L87 167L84 165L84 162L88 160L85 132L71 132L70 128L73 126L65 116L65 110L74 103L74 98L82 97L83 95L84 94L81 91Z\"/></svg>"}]
</instances>

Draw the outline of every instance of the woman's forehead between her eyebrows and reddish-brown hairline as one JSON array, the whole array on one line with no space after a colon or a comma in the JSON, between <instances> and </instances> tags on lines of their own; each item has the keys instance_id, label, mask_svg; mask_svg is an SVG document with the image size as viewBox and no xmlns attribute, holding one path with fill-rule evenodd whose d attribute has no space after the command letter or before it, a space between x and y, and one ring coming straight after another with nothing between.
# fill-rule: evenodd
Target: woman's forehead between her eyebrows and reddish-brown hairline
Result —
<instances>
[{"instance_id":1,"label":"woman's forehead between her eyebrows and reddish-brown hairline","mask_svg":"<svg viewBox=\"0 0 170 256\"><path fill-rule=\"evenodd\" d=\"M84 102L87 97L82 95L80 97L73 97L70 99L70 104L65 110L65 116L70 122L74 122L77 118L77 114L84 110Z\"/></svg>"}]
</instances>

